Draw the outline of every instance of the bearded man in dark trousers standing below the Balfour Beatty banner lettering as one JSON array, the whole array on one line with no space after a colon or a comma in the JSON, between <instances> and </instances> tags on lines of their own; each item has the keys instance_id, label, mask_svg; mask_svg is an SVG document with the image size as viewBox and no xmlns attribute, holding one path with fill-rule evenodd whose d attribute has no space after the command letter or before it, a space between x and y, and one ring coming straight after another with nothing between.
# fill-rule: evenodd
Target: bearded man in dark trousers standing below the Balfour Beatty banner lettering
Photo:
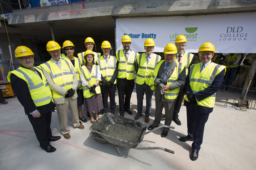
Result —
<instances>
[{"instance_id":1,"label":"bearded man in dark trousers standing below the Balfour Beatty banner lettering","mask_svg":"<svg viewBox=\"0 0 256 170\"><path fill-rule=\"evenodd\" d=\"M132 115L132 111L130 111L130 101L134 89L134 66L138 53L130 49L131 43L132 40L129 35L124 35L122 38L124 49L116 51L116 59L118 61L116 84L120 116L124 116L124 111Z\"/></svg>"}]
</instances>

